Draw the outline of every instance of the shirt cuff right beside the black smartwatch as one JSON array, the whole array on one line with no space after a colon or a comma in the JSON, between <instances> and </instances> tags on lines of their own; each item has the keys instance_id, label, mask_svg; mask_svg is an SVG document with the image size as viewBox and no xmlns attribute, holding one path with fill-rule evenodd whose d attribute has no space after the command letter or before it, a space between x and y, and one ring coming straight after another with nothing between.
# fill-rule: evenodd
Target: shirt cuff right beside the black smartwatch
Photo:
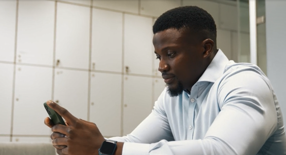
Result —
<instances>
[{"instance_id":1,"label":"shirt cuff right beside the black smartwatch","mask_svg":"<svg viewBox=\"0 0 286 155\"><path fill-rule=\"evenodd\" d=\"M150 144L124 142L122 155L149 155Z\"/></svg>"}]
</instances>

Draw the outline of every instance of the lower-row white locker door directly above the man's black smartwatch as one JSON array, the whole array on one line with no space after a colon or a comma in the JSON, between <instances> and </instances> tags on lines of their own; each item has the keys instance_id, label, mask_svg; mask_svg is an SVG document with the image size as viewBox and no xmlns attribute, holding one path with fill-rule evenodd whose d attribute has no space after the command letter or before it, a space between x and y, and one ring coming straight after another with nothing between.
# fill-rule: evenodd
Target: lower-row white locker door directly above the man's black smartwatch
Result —
<instances>
[{"instance_id":1,"label":"lower-row white locker door directly above the man's black smartwatch","mask_svg":"<svg viewBox=\"0 0 286 155\"><path fill-rule=\"evenodd\" d=\"M91 73L90 122L103 136L121 135L121 74Z\"/></svg>"}]
</instances>

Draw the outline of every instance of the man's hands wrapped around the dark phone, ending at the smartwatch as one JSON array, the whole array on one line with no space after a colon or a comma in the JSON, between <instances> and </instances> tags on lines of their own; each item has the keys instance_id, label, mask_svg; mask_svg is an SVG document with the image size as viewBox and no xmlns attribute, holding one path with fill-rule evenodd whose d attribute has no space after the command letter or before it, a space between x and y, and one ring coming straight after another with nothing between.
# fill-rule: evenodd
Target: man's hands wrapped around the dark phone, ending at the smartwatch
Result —
<instances>
[{"instance_id":1,"label":"man's hands wrapped around the dark phone, ending at the smartwatch","mask_svg":"<svg viewBox=\"0 0 286 155\"><path fill-rule=\"evenodd\" d=\"M47 101L47 105L61 115L68 124L68 126L53 125L49 118L45 119L45 124L54 132L51 138L58 154L98 154L98 149L105 139L94 123L77 119L52 101Z\"/></svg>"}]
</instances>

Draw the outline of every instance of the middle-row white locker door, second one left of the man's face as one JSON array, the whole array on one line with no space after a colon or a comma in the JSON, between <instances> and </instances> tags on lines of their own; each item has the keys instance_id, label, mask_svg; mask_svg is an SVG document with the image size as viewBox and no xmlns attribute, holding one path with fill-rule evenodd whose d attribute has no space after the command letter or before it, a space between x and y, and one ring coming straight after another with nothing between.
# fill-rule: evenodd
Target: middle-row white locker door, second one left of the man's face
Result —
<instances>
[{"instance_id":1,"label":"middle-row white locker door, second one left of the man's face","mask_svg":"<svg viewBox=\"0 0 286 155\"><path fill-rule=\"evenodd\" d=\"M122 71L122 13L93 9L91 69Z\"/></svg>"}]
</instances>

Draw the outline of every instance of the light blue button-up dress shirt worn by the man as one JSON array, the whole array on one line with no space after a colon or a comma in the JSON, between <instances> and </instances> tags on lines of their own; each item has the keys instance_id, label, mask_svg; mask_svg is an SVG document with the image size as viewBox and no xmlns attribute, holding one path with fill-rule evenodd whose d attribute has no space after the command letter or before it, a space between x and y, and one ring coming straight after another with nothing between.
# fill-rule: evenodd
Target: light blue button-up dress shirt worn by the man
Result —
<instances>
[{"instance_id":1,"label":"light blue button-up dress shirt worn by the man","mask_svg":"<svg viewBox=\"0 0 286 155\"><path fill-rule=\"evenodd\" d=\"M170 97L165 89L131 134L110 139L125 142L124 155L286 154L270 81L256 65L229 61L221 50L190 95Z\"/></svg>"}]
</instances>

